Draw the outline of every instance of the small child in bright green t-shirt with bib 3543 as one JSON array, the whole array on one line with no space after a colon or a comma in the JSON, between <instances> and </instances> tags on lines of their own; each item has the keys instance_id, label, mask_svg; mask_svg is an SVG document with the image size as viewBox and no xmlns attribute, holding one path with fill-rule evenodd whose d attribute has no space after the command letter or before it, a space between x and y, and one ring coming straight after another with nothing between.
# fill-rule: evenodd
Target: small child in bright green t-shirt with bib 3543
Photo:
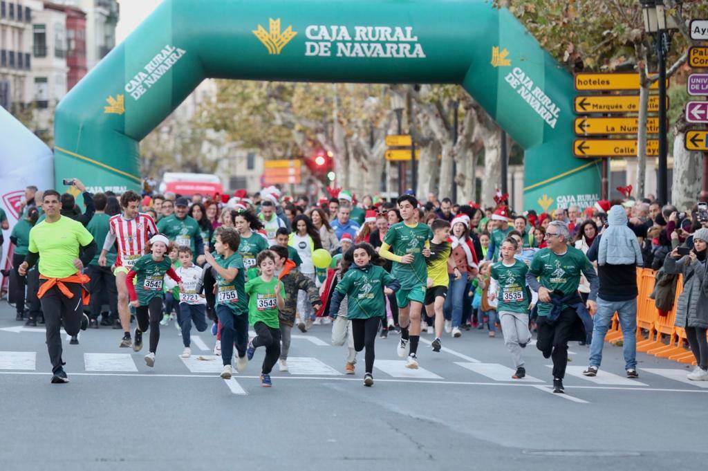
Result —
<instances>
[{"instance_id":1,"label":"small child in bright green t-shirt with bib 3543","mask_svg":"<svg viewBox=\"0 0 708 471\"><path fill-rule=\"evenodd\" d=\"M251 278L246 283L249 295L249 323L256 331L256 336L249 341L246 357L253 358L253 353L260 346L265 347L265 358L261 368L261 384L272 386L270 372L280 357L280 319L278 310L285 307L285 286L275 277L275 254L270 250L258 254L258 268L261 276Z\"/></svg>"}]
</instances>

